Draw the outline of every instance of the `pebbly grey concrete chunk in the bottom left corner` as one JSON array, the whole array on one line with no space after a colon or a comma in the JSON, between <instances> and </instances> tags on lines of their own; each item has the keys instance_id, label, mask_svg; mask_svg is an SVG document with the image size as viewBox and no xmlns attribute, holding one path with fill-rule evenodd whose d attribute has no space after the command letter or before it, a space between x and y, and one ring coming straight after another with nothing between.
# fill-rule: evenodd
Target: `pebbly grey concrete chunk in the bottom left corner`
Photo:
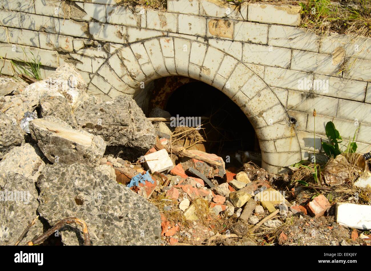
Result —
<instances>
[{"instance_id":1,"label":"pebbly grey concrete chunk in the bottom left corner","mask_svg":"<svg viewBox=\"0 0 371 271\"><path fill-rule=\"evenodd\" d=\"M36 218L37 190L35 182L18 173L6 174L0 191L0 245L14 245L30 221ZM36 220L20 245L43 233L43 225Z\"/></svg>"}]
</instances>

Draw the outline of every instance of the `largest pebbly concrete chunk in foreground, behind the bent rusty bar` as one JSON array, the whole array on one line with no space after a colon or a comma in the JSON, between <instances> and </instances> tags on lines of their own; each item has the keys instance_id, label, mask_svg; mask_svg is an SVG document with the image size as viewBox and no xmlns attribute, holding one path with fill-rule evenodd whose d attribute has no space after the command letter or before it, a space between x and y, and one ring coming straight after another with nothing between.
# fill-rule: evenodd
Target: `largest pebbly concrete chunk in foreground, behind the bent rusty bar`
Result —
<instances>
[{"instance_id":1,"label":"largest pebbly concrete chunk in foreground, behind the bent rusty bar","mask_svg":"<svg viewBox=\"0 0 371 271\"><path fill-rule=\"evenodd\" d=\"M39 177L38 211L50 225L74 215L86 221L93 245L158 245L158 209L88 165L48 165ZM60 231L66 245L83 243L80 228Z\"/></svg>"}]
</instances>

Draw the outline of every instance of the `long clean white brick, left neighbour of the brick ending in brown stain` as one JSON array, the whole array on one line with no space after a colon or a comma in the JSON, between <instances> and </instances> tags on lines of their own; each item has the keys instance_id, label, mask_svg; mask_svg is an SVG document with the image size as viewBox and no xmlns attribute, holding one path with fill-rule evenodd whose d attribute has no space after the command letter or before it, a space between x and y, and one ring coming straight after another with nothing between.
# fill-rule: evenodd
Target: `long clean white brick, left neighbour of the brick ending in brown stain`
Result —
<instances>
[{"instance_id":1,"label":"long clean white brick, left neighbour of the brick ending in brown stain","mask_svg":"<svg viewBox=\"0 0 371 271\"><path fill-rule=\"evenodd\" d=\"M253 43L243 44L242 62L289 68L291 49Z\"/></svg>"}]
</instances>

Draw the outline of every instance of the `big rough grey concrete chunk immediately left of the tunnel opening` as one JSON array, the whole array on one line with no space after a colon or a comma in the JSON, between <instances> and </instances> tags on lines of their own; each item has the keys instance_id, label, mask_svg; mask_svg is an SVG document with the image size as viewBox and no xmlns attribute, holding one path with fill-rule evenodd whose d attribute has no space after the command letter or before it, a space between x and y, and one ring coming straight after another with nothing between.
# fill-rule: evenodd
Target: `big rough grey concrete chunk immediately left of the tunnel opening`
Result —
<instances>
[{"instance_id":1,"label":"big rough grey concrete chunk immediately left of the tunnel opening","mask_svg":"<svg viewBox=\"0 0 371 271\"><path fill-rule=\"evenodd\" d=\"M152 123L126 94L76 112L76 120L80 128L100 135L108 146L125 147L126 157L138 157L155 144Z\"/></svg>"}]
</instances>

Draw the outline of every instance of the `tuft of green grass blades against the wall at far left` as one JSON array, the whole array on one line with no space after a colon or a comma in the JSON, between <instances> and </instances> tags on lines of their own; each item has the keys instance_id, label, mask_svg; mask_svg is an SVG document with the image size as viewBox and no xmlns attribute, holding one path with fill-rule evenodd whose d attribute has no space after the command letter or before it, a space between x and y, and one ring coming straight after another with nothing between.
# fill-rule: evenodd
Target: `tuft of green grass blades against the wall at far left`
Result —
<instances>
[{"instance_id":1,"label":"tuft of green grass blades against the wall at far left","mask_svg":"<svg viewBox=\"0 0 371 271\"><path fill-rule=\"evenodd\" d=\"M20 74L25 74L28 77L35 78L36 80L41 80L41 71L40 66L41 62L39 61L38 57L31 52L31 57L27 56L26 52L22 48L25 60L18 59L17 62L14 62L13 60L10 60L10 63L12 63L13 67L16 68L17 72Z\"/></svg>"}]
</instances>

